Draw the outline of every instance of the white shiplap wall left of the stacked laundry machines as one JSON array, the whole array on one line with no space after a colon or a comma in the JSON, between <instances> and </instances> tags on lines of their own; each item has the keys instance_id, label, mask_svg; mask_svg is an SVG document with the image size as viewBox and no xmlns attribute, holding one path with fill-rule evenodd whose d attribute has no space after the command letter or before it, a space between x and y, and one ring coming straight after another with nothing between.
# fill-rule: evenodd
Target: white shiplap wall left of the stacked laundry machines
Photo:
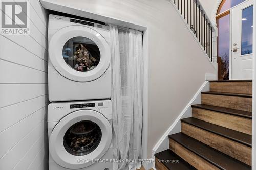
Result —
<instances>
[{"instance_id":1,"label":"white shiplap wall left of the stacked laundry machines","mask_svg":"<svg viewBox=\"0 0 256 170\"><path fill-rule=\"evenodd\" d=\"M0 36L0 169L48 169L47 14L28 1L29 36Z\"/></svg>"}]
</instances>

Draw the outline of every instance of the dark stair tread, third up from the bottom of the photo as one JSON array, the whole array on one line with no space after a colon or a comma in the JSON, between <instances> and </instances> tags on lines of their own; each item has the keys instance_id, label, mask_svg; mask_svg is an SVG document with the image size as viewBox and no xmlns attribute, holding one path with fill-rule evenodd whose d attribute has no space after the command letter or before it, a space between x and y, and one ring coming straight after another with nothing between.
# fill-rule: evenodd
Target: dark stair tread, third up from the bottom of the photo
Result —
<instances>
[{"instance_id":1,"label":"dark stair tread, third up from the bottom of the photo","mask_svg":"<svg viewBox=\"0 0 256 170\"><path fill-rule=\"evenodd\" d=\"M193 117L181 119L181 122L193 125L195 127L201 128L203 130L209 131L211 133L223 136L230 140L233 140L233 141L245 144L248 147L251 147L251 135L238 132L232 129L228 129L219 125L211 124Z\"/></svg>"}]
</instances>

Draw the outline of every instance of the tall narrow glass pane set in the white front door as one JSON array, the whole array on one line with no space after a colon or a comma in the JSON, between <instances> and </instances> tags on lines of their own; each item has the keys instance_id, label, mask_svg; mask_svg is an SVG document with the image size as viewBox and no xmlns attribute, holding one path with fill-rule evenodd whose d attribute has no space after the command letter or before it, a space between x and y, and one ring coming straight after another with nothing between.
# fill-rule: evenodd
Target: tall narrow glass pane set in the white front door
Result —
<instances>
[{"instance_id":1,"label":"tall narrow glass pane set in the white front door","mask_svg":"<svg viewBox=\"0 0 256 170\"><path fill-rule=\"evenodd\" d=\"M252 53L253 6L242 10L242 44L241 55Z\"/></svg>"}]
</instances>

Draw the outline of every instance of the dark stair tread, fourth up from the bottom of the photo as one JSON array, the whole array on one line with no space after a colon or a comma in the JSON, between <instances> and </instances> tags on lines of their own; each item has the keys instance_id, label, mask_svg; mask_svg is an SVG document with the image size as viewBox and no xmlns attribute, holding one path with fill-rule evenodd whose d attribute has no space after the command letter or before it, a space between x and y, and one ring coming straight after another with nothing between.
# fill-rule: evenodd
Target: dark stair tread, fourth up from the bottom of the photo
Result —
<instances>
[{"instance_id":1,"label":"dark stair tread, fourth up from the bottom of the photo","mask_svg":"<svg viewBox=\"0 0 256 170\"><path fill-rule=\"evenodd\" d=\"M229 108L225 108L225 107L218 107L218 106L211 106L211 105L204 105L204 104L191 105L191 106L200 108L200 109L216 111L216 112L236 115L236 116L250 118L250 119L252 118L252 112L247 112L247 111L242 111L242 110L229 109Z\"/></svg>"}]
</instances>

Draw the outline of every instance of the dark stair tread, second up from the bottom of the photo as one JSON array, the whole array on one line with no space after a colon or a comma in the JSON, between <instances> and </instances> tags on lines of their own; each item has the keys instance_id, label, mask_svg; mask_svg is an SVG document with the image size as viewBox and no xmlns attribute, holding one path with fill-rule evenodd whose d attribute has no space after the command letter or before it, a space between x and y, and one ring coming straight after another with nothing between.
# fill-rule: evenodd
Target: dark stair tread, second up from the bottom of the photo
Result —
<instances>
[{"instance_id":1,"label":"dark stair tread, second up from the bottom of the photo","mask_svg":"<svg viewBox=\"0 0 256 170\"><path fill-rule=\"evenodd\" d=\"M177 133L169 135L170 139L173 139L177 143L181 144L187 150L193 152L199 157L207 160L211 164L214 164L220 169L225 170L242 170L251 169L250 166L243 162L240 162L222 152L209 147L208 145L191 138L183 133Z\"/></svg>"}]
</instances>

